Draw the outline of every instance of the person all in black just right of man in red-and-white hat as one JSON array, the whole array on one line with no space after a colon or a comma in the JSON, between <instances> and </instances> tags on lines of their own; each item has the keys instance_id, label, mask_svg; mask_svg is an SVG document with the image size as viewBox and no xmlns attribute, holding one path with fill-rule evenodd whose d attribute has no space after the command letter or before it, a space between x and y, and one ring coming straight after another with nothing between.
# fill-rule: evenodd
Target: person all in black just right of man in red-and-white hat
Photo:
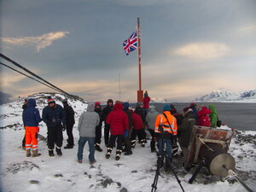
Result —
<instances>
[{"instance_id":1,"label":"person all in black just right of man in red-and-white hat","mask_svg":"<svg viewBox=\"0 0 256 192\"><path fill-rule=\"evenodd\" d=\"M75 123L74 119L74 111L73 108L67 104L67 99L64 99L62 101L63 108L65 111L66 115L66 125L67 125L67 146L64 148L73 148L74 143L73 143L73 125Z\"/></svg>"}]
</instances>

